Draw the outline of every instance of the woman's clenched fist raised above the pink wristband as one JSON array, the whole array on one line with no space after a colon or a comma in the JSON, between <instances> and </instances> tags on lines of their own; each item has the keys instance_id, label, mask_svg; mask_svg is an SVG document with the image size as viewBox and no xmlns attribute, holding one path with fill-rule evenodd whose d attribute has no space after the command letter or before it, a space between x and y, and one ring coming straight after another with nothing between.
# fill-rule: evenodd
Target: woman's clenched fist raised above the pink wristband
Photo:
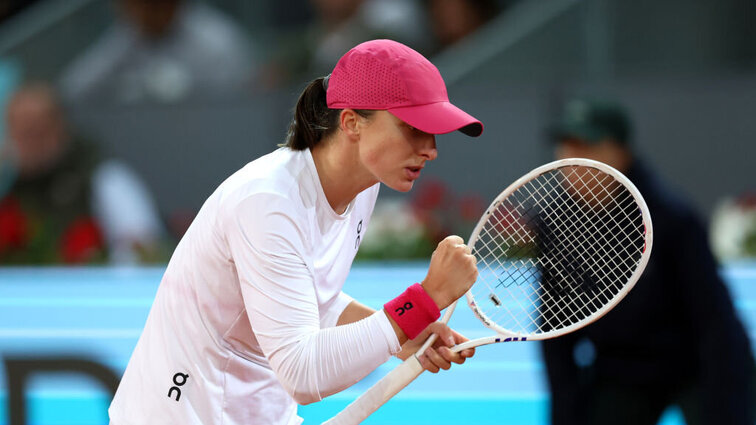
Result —
<instances>
[{"instance_id":1,"label":"woman's clenched fist raised above the pink wristband","mask_svg":"<svg viewBox=\"0 0 756 425\"><path fill-rule=\"evenodd\" d=\"M477 262L471 252L459 236L447 236L433 251L422 285L439 310L464 295L478 278Z\"/></svg>"}]
</instances>

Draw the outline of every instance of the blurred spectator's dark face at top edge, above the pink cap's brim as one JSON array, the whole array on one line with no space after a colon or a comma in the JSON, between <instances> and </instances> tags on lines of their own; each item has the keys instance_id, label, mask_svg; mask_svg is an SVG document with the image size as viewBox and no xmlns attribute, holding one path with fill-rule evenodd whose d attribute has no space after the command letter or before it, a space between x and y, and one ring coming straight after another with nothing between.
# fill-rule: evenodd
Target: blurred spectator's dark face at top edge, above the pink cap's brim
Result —
<instances>
[{"instance_id":1,"label":"blurred spectator's dark face at top edge, above the pink cap's brim","mask_svg":"<svg viewBox=\"0 0 756 425\"><path fill-rule=\"evenodd\" d=\"M496 0L425 0L435 50L467 37L499 13Z\"/></svg>"}]
</instances>

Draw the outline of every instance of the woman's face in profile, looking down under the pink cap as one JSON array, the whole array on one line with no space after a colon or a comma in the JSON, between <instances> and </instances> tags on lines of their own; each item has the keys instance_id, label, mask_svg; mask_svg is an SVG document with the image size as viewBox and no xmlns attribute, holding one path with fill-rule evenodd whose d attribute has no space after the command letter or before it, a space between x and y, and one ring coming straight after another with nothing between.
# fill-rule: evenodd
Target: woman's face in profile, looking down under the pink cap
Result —
<instances>
[{"instance_id":1,"label":"woman's face in profile, looking down under the pink cap","mask_svg":"<svg viewBox=\"0 0 756 425\"><path fill-rule=\"evenodd\" d=\"M407 192L426 161L438 156L436 138L403 122L388 111L362 121L359 150L364 168L378 181Z\"/></svg>"}]
</instances>

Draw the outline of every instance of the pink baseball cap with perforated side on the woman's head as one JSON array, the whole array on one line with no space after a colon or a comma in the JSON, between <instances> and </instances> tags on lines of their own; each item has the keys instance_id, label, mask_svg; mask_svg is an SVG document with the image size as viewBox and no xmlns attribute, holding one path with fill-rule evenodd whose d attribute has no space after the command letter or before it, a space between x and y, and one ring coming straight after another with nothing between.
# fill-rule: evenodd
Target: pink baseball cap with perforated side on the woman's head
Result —
<instances>
[{"instance_id":1,"label":"pink baseball cap with perforated side on the woman's head","mask_svg":"<svg viewBox=\"0 0 756 425\"><path fill-rule=\"evenodd\" d=\"M449 102L438 69L392 40L367 41L342 56L329 77L326 100L331 109L387 110L426 133L483 133L480 121Z\"/></svg>"}]
</instances>

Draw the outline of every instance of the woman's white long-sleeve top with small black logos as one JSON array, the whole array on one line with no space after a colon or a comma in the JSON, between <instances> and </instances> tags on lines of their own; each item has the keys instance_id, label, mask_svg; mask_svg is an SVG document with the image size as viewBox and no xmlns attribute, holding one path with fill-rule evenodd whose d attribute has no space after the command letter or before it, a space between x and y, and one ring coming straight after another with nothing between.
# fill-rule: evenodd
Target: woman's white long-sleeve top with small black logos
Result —
<instances>
[{"instance_id":1,"label":"woman's white long-sleeve top with small black logos","mask_svg":"<svg viewBox=\"0 0 756 425\"><path fill-rule=\"evenodd\" d=\"M381 311L335 326L377 195L375 185L337 214L310 151L288 148L223 182L168 264L111 422L299 424L296 403L399 351Z\"/></svg>"}]
</instances>

